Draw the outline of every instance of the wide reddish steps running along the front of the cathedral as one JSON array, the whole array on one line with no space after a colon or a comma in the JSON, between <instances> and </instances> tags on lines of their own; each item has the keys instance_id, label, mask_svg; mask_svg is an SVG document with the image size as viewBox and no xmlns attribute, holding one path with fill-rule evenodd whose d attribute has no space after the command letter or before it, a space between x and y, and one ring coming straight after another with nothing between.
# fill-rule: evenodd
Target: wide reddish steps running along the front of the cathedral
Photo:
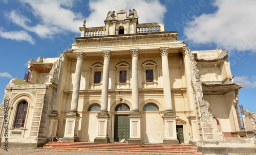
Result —
<instances>
[{"instance_id":1,"label":"wide reddish steps running along the front of the cathedral","mask_svg":"<svg viewBox=\"0 0 256 155\"><path fill-rule=\"evenodd\" d=\"M141 151L141 152L176 152L200 153L196 145L165 145L165 144L128 144L128 143L91 143L91 142L50 142L39 149L86 149L112 151Z\"/></svg>"}]
</instances>

